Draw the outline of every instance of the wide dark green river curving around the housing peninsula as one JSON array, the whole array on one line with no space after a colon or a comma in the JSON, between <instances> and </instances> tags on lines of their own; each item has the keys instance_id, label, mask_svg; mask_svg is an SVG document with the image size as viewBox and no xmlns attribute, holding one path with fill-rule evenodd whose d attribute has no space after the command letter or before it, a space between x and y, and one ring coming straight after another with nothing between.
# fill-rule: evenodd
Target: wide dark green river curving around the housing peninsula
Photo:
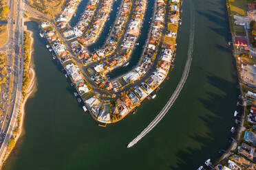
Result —
<instances>
[{"instance_id":1,"label":"wide dark green river curving around the housing peninsula","mask_svg":"<svg viewBox=\"0 0 256 170\"><path fill-rule=\"evenodd\" d=\"M194 5L191 5L193 3ZM193 6L193 9L192 9ZM3 169L197 169L228 147L234 125L237 80L224 0L183 2L175 68L157 97L143 101L134 115L98 127L78 105L72 88L34 32L36 93L25 108L24 134ZM193 60L189 77L167 115L134 147L127 148L167 103L187 59L190 10L195 12ZM147 29L143 30L147 32Z\"/></svg>"}]
</instances>

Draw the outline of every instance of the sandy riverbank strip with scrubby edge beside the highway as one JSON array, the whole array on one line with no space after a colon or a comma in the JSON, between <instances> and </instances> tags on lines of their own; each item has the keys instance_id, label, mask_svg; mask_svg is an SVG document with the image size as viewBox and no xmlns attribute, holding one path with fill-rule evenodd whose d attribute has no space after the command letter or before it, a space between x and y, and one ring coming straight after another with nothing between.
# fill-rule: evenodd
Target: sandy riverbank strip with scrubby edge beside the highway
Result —
<instances>
[{"instance_id":1,"label":"sandy riverbank strip with scrubby edge beside the highway","mask_svg":"<svg viewBox=\"0 0 256 170\"><path fill-rule=\"evenodd\" d=\"M21 134L23 132L23 121L25 119L25 104L26 104L26 101L31 97L32 93L34 92L34 84L35 84L35 79L36 79L36 73L32 67L32 46L33 46L33 43L34 43L34 38L32 37L32 32L27 30L26 27L24 27L24 32L28 32L28 34L30 34L30 48L29 48L29 51L30 51L30 58L29 58L29 67L28 67L28 71L30 72L30 81L29 81L29 84L28 84L28 88L26 88L25 90L25 93L26 95L22 97L22 103L21 103L21 106L19 108L20 112L19 112L19 116L17 118L17 127L15 127L15 130L13 130L13 136L12 136L12 146L9 146L10 145L10 142L8 143L8 150L6 151L6 154L2 160L2 162L0 163L0 167L2 168L2 166L4 165L4 163L6 162L8 156L10 156L10 154L12 153L12 149L14 149L14 146L15 144L17 143L17 141L19 140L19 138L21 137ZM10 140L11 140L10 139ZM9 148L10 147L10 148ZM1 169L0 168L0 169Z\"/></svg>"}]
</instances>

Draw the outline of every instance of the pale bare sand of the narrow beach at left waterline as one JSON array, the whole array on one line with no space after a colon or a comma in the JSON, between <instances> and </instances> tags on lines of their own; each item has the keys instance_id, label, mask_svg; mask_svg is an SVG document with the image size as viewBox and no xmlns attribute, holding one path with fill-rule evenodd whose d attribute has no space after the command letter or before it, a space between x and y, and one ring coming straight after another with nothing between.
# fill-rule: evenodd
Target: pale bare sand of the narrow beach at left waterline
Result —
<instances>
[{"instance_id":1,"label":"pale bare sand of the narrow beach at left waterline","mask_svg":"<svg viewBox=\"0 0 256 170\"><path fill-rule=\"evenodd\" d=\"M30 64L29 64L30 84L28 86L28 89L26 90L27 95L26 95L25 98L23 98L21 106L20 106L21 122L20 122L19 127L18 127L19 128L18 134L16 136L14 136L15 145L16 145L17 141L19 140L19 137L21 136L22 132L23 132L23 121L24 121L24 118L25 118L25 104L26 104L26 101L30 98L30 96L34 92L34 83L35 83L35 78L36 78L36 72L34 71L33 66L32 66L32 52L34 51L32 49L32 46L33 46L33 43L34 43L34 38L32 37L33 32L29 31L25 26L24 26L24 31L30 33L30 39L31 39L31 44L30 44ZM12 149L14 149L14 147ZM4 162L6 162L7 158L12 153L12 149L6 151L6 155L4 156L4 158L3 158L2 162L1 162L1 168L3 167Z\"/></svg>"}]
</instances>

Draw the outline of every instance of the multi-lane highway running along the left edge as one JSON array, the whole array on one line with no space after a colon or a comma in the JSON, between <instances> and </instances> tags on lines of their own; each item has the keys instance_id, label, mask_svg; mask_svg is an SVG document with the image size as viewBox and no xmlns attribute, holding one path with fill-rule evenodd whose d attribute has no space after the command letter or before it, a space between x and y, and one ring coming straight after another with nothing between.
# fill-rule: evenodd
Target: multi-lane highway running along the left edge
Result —
<instances>
[{"instance_id":1,"label":"multi-lane highway running along the left edge","mask_svg":"<svg viewBox=\"0 0 256 170\"><path fill-rule=\"evenodd\" d=\"M1 148L0 160L6 154L8 141L12 137L12 132L19 114L21 104L21 89L23 77L23 9L22 0L17 0L17 7L14 10L14 0L10 0L10 12L8 20L9 37L6 45L1 47L8 53L8 81L6 90L1 91L1 99L5 103L3 106L4 115L1 117ZM20 49L21 48L21 49ZM9 89L10 88L10 89ZM10 94L11 93L11 94ZM8 98L10 96L10 98ZM3 98L4 97L4 98Z\"/></svg>"}]
</instances>

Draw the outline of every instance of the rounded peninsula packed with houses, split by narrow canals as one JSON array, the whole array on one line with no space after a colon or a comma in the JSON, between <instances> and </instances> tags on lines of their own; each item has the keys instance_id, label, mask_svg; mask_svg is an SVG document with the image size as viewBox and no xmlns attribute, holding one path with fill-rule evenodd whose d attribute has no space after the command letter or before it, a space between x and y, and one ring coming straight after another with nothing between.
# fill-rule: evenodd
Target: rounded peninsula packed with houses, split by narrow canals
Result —
<instances>
[{"instance_id":1,"label":"rounded peninsula packed with houses, split by narrow canals","mask_svg":"<svg viewBox=\"0 0 256 170\"><path fill-rule=\"evenodd\" d=\"M70 77L74 95L83 109L98 122L114 123L136 112L144 99L156 97L153 91L167 77L175 57L180 1L155 1L140 62L114 80L109 80L107 73L129 64L145 20L147 1L123 0L105 45L93 53L87 45L100 35L114 1L90 0L78 23L71 27L69 21L79 2L70 1L56 25L41 23L40 34L47 39L47 47L63 66L65 76Z\"/></svg>"}]
</instances>

